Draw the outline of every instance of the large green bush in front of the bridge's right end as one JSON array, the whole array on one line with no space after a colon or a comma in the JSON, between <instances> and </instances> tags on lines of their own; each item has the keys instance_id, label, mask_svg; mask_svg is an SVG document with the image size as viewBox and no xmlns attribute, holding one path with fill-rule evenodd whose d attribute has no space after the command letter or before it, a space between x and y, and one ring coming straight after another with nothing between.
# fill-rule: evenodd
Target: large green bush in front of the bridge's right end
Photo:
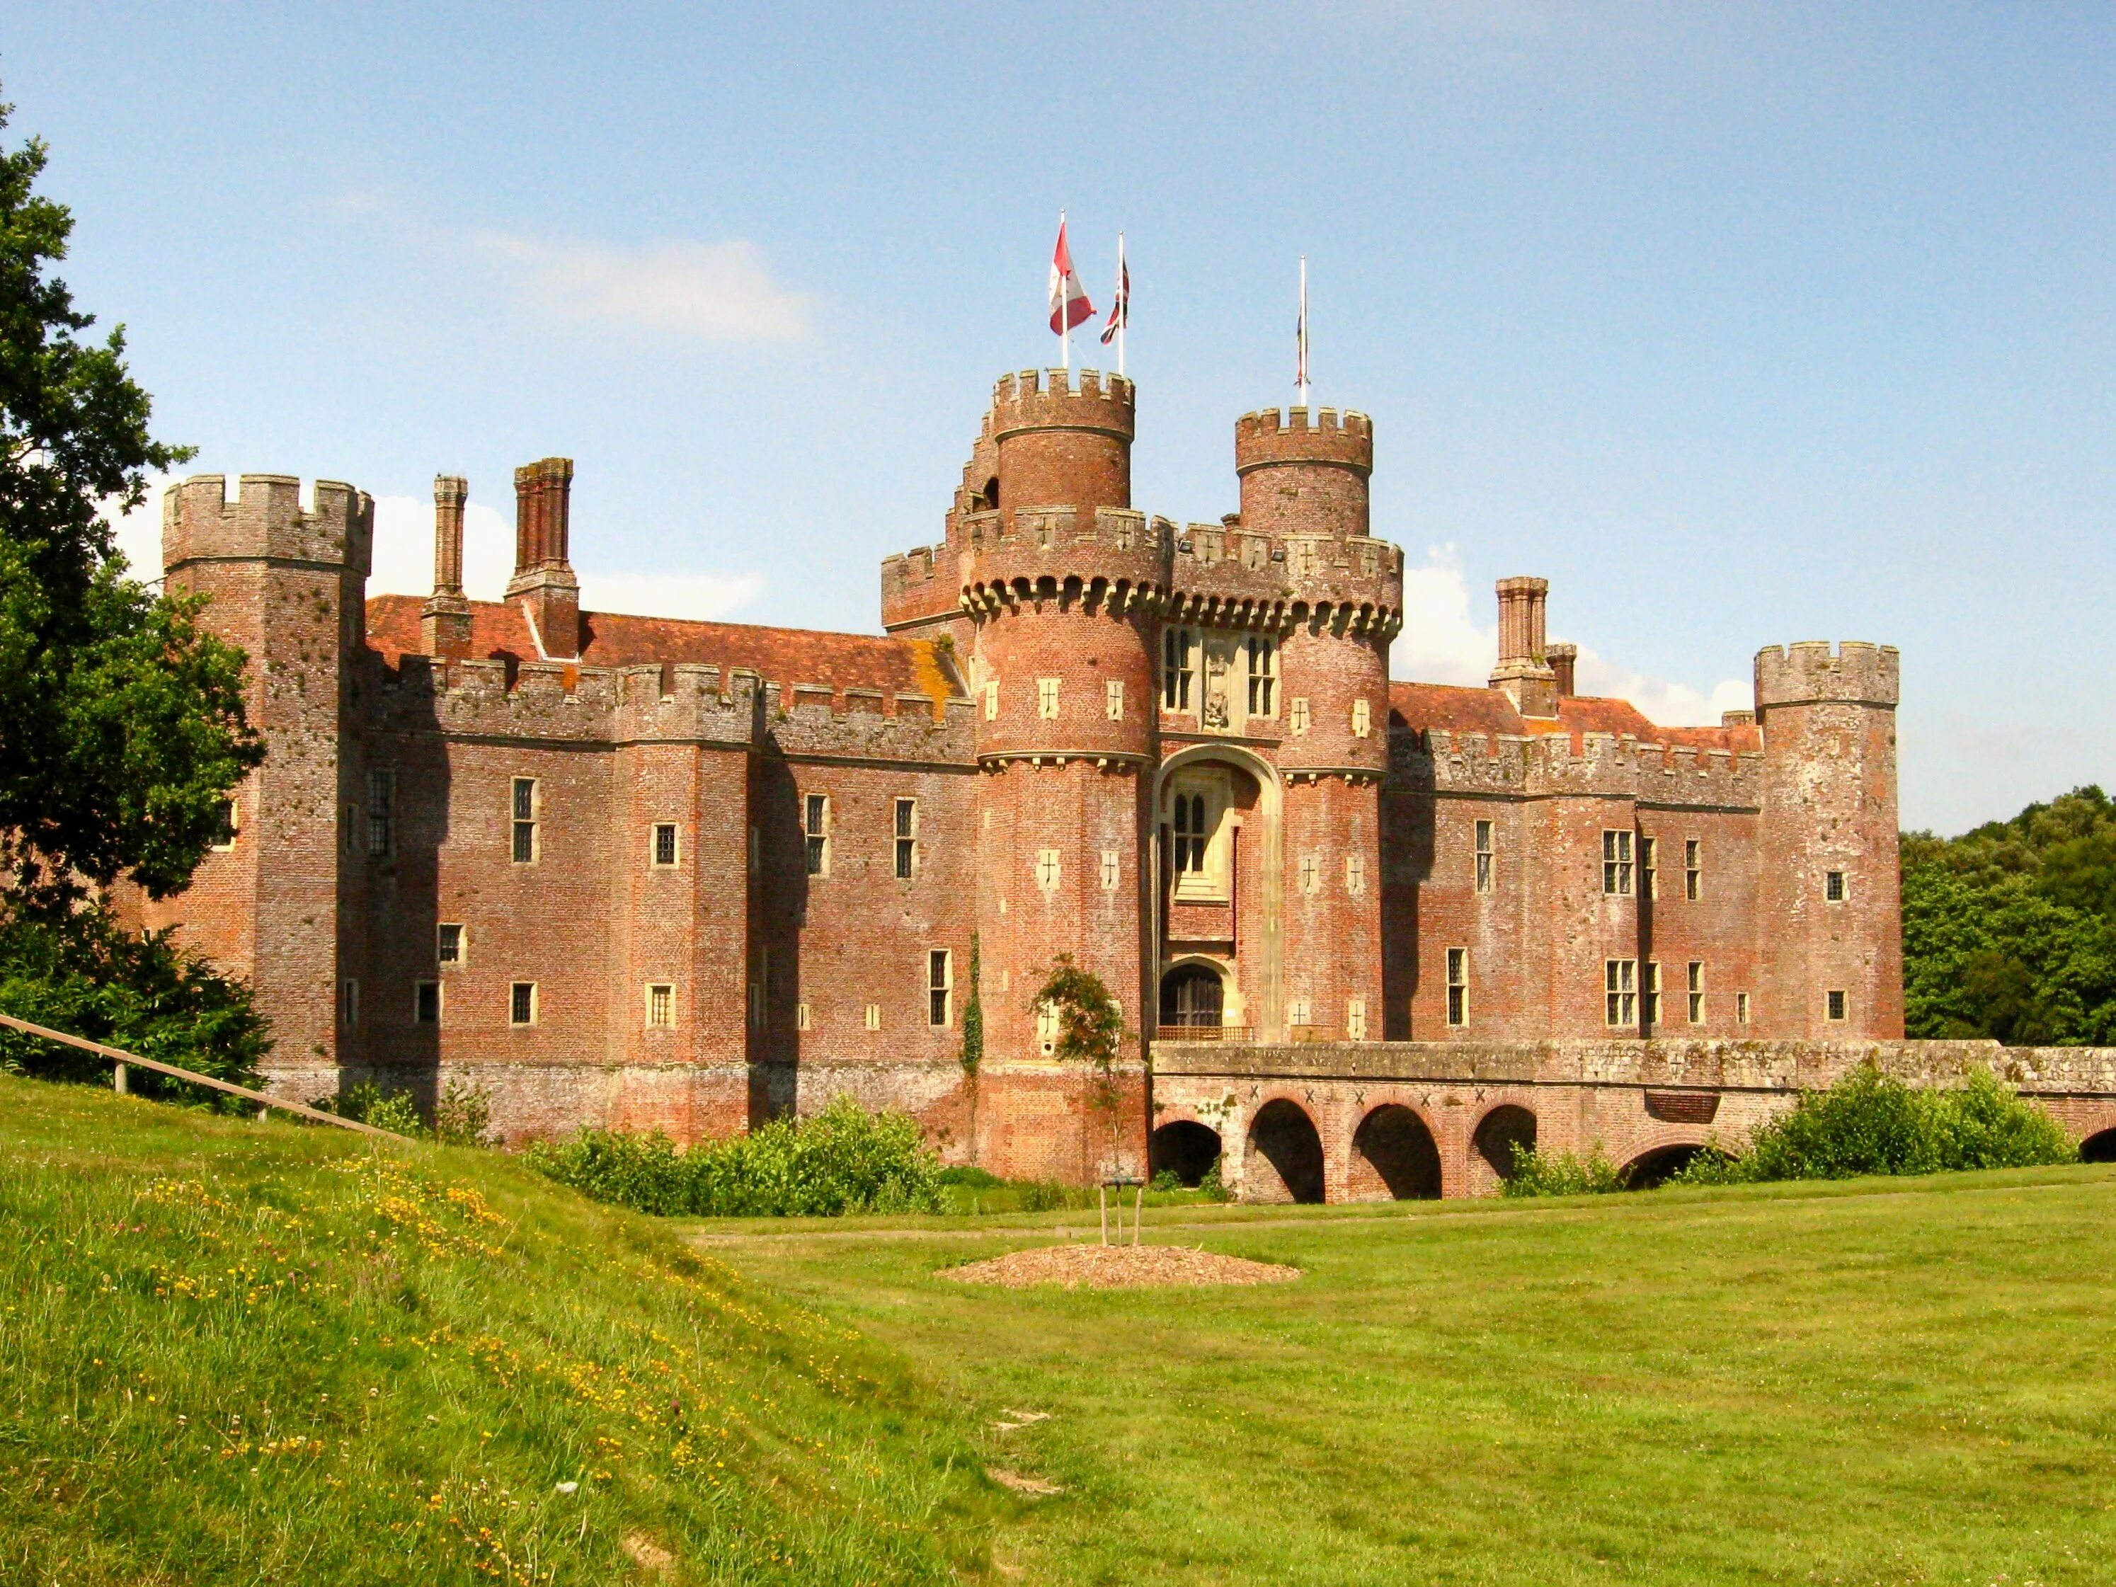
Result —
<instances>
[{"instance_id":1,"label":"large green bush in front of the bridge's right end","mask_svg":"<svg viewBox=\"0 0 2116 1587\"><path fill-rule=\"evenodd\" d=\"M1985 1069L1949 1090L1917 1090L1868 1062L1826 1092L1803 1094L1790 1113L1756 1130L1746 1155L1699 1157L1670 1183L2038 1168L2078 1155L2057 1119Z\"/></svg>"}]
</instances>

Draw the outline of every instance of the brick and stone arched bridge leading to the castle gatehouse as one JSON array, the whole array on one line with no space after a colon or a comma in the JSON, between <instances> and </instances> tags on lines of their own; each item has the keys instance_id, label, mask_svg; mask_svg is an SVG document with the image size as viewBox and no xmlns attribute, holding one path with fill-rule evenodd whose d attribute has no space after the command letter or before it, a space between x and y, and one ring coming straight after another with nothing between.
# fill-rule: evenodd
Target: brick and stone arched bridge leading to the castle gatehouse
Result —
<instances>
[{"instance_id":1,"label":"brick and stone arched bridge leading to the castle gatehouse","mask_svg":"<svg viewBox=\"0 0 2116 1587\"><path fill-rule=\"evenodd\" d=\"M1244 1202L1492 1196L1515 1138L1657 1176L1866 1060L1911 1086L1989 1069L2116 1162L2116 1047L1995 1041L1155 1041L1151 1153L1193 1176L1210 1132Z\"/></svg>"}]
</instances>

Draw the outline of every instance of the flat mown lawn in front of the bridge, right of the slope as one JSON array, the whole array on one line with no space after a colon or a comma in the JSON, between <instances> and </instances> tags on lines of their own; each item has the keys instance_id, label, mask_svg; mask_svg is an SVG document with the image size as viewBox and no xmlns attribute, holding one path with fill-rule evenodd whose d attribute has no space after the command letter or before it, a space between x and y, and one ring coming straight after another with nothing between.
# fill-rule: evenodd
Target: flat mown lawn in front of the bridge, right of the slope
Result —
<instances>
[{"instance_id":1,"label":"flat mown lawn in front of the bridge, right of the slope","mask_svg":"<svg viewBox=\"0 0 2116 1587\"><path fill-rule=\"evenodd\" d=\"M1052 1413L984 1435L1069 1490L997 1545L1026 1581L2116 1579L2108 1168L1378 1210L1149 1210L1306 1270L1162 1295L933 1276L1024 1232L698 1238Z\"/></svg>"}]
</instances>

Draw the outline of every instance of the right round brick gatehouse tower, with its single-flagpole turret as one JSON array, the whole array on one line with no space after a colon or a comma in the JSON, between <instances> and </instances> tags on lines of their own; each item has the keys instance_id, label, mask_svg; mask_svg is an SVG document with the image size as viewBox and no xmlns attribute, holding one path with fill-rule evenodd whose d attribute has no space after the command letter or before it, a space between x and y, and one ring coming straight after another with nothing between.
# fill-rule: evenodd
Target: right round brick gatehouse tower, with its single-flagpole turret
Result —
<instances>
[{"instance_id":1,"label":"right round brick gatehouse tower, with its single-flagpole turret","mask_svg":"<svg viewBox=\"0 0 2116 1587\"><path fill-rule=\"evenodd\" d=\"M1388 643L1403 626L1403 554L1373 540L1363 413L1276 408L1234 427L1242 529L1284 550L1280 641L1287 1026L1384 1035L1380 796L1388 772Z\"/></svg>"}]
</instances>

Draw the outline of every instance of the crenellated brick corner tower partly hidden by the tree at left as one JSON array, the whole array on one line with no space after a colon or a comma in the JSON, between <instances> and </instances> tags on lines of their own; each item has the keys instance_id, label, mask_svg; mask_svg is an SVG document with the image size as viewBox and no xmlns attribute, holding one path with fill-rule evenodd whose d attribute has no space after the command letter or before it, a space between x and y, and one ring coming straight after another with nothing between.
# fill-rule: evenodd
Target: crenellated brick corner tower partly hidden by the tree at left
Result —
<instances>
[{"instance_id":1,"label":"crenellated brick corner tower partly hidden by the tree at left","mask_svg":"<svg viewBox=\"0 0 2116 1587\"><path fill-rule=\"evenodd\" d=\"M233 838L190 889L146 904L148 925L182 920L186 942L250 980L273 1022L271 1069L300 1096L336 1086L360 1054L358 868L341 827L362 806L347 734L355 658L366 645L375 504L317 480L243 474L237 499L203 474L163 497L171 590L212 599L205 622L250 658L250 722L264 764L235 791ZM343 834L343 836L341 836ZM309 1090L303 1090L309 1086Z\"/></svg>"}]
</instances>

